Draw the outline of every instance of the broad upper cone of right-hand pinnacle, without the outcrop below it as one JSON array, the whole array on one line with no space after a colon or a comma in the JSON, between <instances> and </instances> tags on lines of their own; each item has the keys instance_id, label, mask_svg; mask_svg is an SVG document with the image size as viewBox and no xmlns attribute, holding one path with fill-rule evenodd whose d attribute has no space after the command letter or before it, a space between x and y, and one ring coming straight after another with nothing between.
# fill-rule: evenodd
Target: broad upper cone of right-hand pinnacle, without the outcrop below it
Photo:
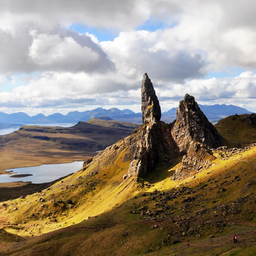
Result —
<instances>
[{"instance_id":1,"label":"broad upper cone of right-hand pinnacle, without the outcrop below it","mask_svg":"<svg viewBox=\"0 0 256 256\"><path fill-rule=\"evenodd\" d=\"M180 101L177 119L172 125L171 134L180 151L188 151L191 141L202 143L210 149L221 145L216 128L201 111L193 96L186 94Z\"/></svg>"}]
</instances>

